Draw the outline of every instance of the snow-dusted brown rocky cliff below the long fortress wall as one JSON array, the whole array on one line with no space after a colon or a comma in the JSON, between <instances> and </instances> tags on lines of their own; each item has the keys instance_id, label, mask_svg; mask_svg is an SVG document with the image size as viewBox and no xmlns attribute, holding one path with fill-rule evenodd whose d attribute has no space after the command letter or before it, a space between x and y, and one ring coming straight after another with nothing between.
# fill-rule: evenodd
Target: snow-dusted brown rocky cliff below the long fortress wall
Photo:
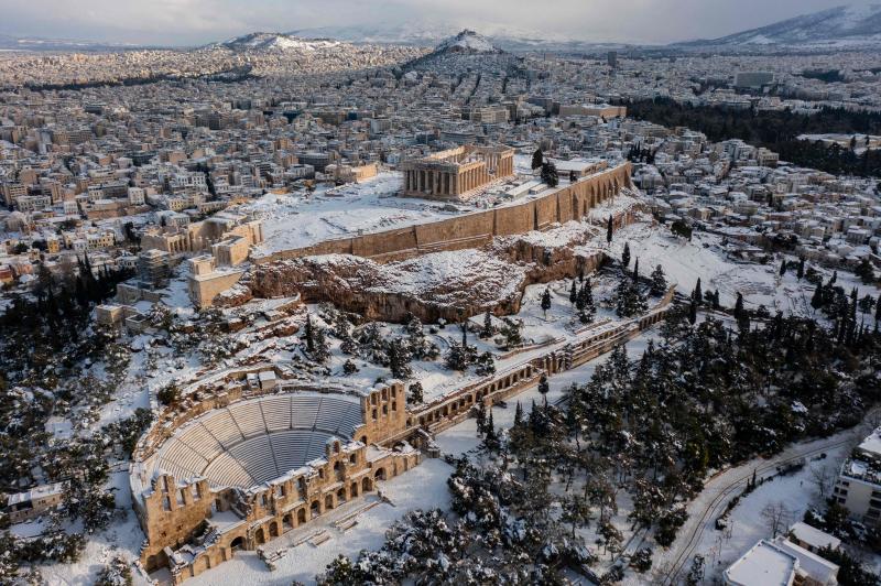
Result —
<instances>
[{"instance_id":1,"label":"snow-dusted brown rocky cliff below the long fortress wall","mask_svg":"<svg viewBox=\"0 0 881 586\"><path fill-rule=\"evenodd\" d=\"M445 251L379 263L351 254L323 254L253 267L225 295L227 306L250 297L301 294L306 303L329 302L368 319L458 322L487 311L512 315L534 283L589 274L606 258L596 242L605 229L570 221L546 231L497 238L481 249Z\"/></svg>"}]
</instances>

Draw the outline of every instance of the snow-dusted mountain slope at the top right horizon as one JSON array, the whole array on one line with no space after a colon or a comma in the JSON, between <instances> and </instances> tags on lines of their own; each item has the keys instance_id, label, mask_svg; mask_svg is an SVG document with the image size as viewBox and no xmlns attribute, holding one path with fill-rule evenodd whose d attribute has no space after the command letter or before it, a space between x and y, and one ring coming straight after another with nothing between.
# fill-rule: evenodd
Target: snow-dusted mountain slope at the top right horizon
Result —
<instances>
[{"instance_id":1,"label":"snow-dusted mountain slope at the top right horizon","mask_svg":"<svg viewBox=\"0 0 881 586\"><path fill-rule=\"evenodd\" d=\"M676 44L685 47L743 45L881 45L881 4L841 6L721 39Z\"/></svg>"}]
</instances>

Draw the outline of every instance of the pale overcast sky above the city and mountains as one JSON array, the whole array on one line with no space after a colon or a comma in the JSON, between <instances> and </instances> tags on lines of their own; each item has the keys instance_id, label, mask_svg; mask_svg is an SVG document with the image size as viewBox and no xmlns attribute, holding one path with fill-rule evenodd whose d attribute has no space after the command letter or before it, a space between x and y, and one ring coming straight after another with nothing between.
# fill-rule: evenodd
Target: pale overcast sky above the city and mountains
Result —
<instances>
[{"instance_id":1,"label":"pale overcast sky above the city and mountains","mask_svg":"<svg viewBox=\"0 0 881 586\"><path fill-rule=\"evenodd\" d=\"M879 0L874 0L875 2ZM594 42L717 37L872 0L0 0L0 33L194 45L253 31L431 23L544 32ZM481 24L483 26L481 26Z\"/></svg>"}]
</instances>

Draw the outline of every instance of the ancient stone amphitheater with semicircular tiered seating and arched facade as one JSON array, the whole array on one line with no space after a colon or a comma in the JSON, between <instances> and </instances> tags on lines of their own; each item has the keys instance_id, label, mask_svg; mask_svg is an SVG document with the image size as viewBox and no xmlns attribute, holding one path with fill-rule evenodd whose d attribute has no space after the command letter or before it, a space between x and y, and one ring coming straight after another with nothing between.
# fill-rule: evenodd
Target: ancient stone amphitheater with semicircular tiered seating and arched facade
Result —
<instances>
[{"instance_id":1,"label":"ancient stone amphitheater with semicircular tiered seating and arched facade","mask_svg":"<svg viewBox=\"0 0 881 586\"><path fill-rule=\"evenodd\" d=\"M142 567L168 567L180 584L416 466L404 401L400 383L316 392L227 381L167 408L130 469Z\"/></svg>"}]
</instances>

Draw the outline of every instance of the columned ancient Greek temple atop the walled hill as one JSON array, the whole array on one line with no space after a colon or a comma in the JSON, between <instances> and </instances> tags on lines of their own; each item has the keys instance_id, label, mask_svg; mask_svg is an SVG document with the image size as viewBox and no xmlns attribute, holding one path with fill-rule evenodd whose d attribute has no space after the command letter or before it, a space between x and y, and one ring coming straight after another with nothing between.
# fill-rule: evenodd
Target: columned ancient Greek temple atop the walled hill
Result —
<instances>
[{"instance_id":1,"label":"columned ancient Greek temple atop the walled hill","mask_svg":"<svg viewBox=\"0 0 881 586\"><path fill-rule=\"evenodd\" d=\"M406 161L405 196L467 199L475 189L514 174L514 151L507 146L466 145Z\"/></svg>"}]
</instances>

